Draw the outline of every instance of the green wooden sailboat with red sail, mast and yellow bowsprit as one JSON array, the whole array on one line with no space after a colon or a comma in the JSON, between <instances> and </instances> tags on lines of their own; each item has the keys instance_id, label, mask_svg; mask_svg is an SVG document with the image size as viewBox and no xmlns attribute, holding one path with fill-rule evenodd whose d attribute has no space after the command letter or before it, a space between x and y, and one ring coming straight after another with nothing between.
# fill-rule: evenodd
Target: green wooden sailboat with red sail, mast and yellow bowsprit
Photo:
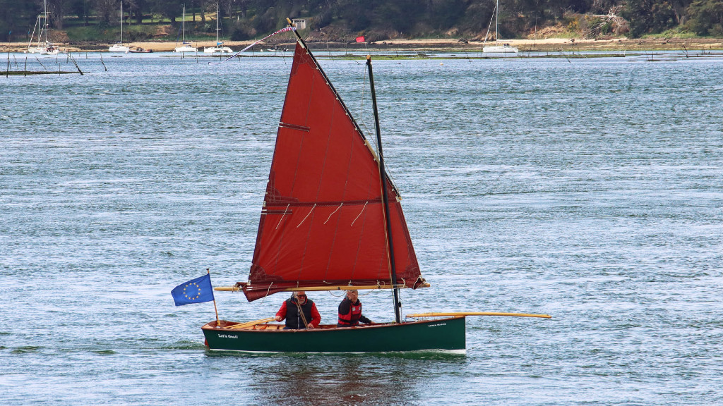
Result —
<instances>
[{"instance_id":1,"label":"green wooden sailboat with red sail, mast and yellow bowsprit","mask_svg":"<svg viewBox=\"0 0 723 406\"><path fill-rule=\"evenodd\" d=\"M249 352L464 352L465 317L470 314L401 319L399 290L429 284L419 270L401 196L385 173L371 59L367 57L377 151L294 33L294 61L249 280L215 290L241 290L254 301L294 290L390 289L394 321L283 329L271 318L217 318L202 327L206 345Z\"/></svg>"}]
</instances>

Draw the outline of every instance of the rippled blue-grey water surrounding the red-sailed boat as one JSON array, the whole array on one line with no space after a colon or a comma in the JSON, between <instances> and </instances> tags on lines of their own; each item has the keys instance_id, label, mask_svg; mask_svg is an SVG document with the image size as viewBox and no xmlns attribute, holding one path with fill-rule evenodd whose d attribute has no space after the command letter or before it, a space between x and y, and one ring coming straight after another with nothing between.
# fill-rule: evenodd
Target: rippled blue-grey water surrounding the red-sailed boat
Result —
<instances>
[{"instance_id":1,"label":"rippled blue-grey water surrounding the red-sailed boat","mask_svg":"<svg viewBox=\"0 0 723 406\"><path fill-rule=\"evenodd\" d=\"M170 290L246 279L291 60L75 58L85 75L0 77L0 404L723 402L721 59L375 61L432 283L403 314L553 319L469 318L466 355L237 355ZM363 62L321 64L371 134ZM333 322L341 299L311 295Z\"/></svg>"}]
</instances>

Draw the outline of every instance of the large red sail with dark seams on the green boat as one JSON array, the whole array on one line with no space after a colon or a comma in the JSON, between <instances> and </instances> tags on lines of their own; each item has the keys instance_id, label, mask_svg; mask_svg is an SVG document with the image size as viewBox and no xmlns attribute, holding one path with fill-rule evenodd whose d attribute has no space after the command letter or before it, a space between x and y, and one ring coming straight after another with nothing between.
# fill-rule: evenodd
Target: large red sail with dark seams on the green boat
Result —
<instances>
[{"instance_id":1,"label":"large red sail with dark seams on the green boat","mask_svg":"<svg viewBox=\"0 0 723 406\"><path fill-rule=\"evenodd\" d=\"M398 285L421 282L387 178ZM249 301L288 288L390 285L376 155L317 61L296 44L254 249Z\"/></svg>"}]
</instances>

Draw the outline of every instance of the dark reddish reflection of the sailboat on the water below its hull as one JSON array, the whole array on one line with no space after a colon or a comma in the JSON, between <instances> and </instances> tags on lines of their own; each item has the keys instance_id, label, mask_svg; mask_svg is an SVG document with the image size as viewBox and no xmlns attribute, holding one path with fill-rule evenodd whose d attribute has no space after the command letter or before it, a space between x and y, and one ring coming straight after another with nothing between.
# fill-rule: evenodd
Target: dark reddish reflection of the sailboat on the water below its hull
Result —
<instances>
[{"instance_id":1,"label":"dark reddish reflection of the sailboat on the water below its hull","mask_svg":"<svg viewBox=\"0 0 723 406\"><path fill-rule=\"evenodd\" d=\"M223 354L252 358L253 384L245 390L257 405L416 405L440 368L453 373L467 362L464 355L429 352Z\"/></svg>"}]
</instances>

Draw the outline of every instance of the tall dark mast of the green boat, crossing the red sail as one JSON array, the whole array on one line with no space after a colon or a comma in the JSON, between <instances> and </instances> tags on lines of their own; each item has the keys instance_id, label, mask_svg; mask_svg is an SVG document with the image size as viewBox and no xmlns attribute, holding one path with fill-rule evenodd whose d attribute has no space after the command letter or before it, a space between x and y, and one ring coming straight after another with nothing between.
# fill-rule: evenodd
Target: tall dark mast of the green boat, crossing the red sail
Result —
<instances>
[{"instance_id":1,"label":"tall dark mast of the green boat, crossing the red sail","mask_svg":"<svg viewBox=\"0 0 723 406\"><path fill-rule=\"evenodd\" d=\"M377 93L374 89L374 73L372 72L372 56L367 56L367 67L369 68L369 85L372 88L372 105L374 106L374 124L377 128L377 149L379 150L379 176L382 180L382 201L384 202L384 223L386 226L387 259L390 269L392 285L392 297L394 300L394 319L401 322L401 303L399 303L399 288L397 287L397 271L394 264L394 244L392 242L392 225L389 218L389 196L387 194L387 174L384 170L384 152L382 152L382 132L379 126L379 111L377 111Z\"/></svg>"}]
</instances>

